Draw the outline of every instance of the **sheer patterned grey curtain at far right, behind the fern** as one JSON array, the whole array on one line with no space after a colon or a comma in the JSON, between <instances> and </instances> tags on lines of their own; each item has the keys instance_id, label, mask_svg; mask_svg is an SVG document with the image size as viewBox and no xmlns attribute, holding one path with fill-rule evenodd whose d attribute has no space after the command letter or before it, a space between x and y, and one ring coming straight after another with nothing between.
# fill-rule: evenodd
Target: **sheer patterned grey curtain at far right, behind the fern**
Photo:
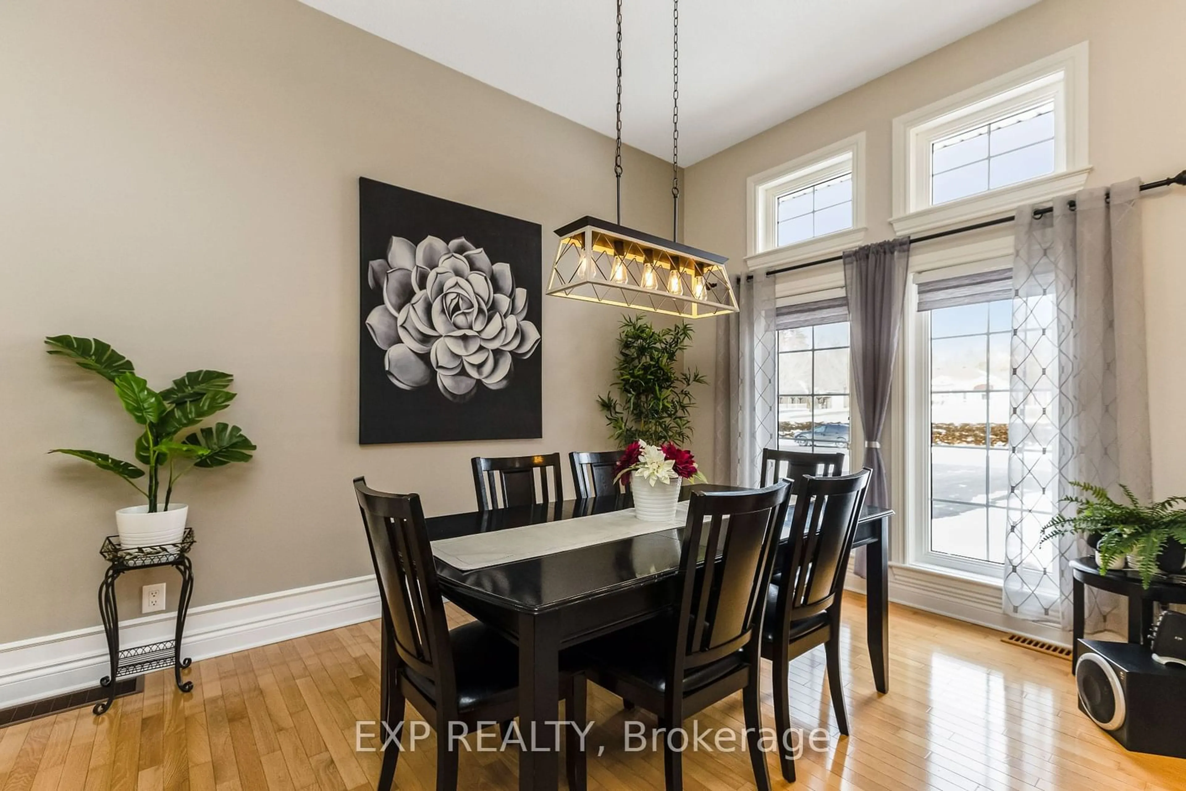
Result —
<instances>
[{"instance_id":1,"label":"sheer patterned grey curtain at far right, behind the fern","mask_svg":"<svg viewBox=\"0 0 1186 791\"><path fill-rule=\"evenodd\" d=\"M1084 190L1039 218L1018 209L1013 266L1006 613L1069 630L1072 559L1040 544L1072 480L1152 495L1140 181ZM1110 193L1110 200L1109 200ZM1116 629L1111 597L1089 602L1088 631Z\"/></svg>"}]
</instances>

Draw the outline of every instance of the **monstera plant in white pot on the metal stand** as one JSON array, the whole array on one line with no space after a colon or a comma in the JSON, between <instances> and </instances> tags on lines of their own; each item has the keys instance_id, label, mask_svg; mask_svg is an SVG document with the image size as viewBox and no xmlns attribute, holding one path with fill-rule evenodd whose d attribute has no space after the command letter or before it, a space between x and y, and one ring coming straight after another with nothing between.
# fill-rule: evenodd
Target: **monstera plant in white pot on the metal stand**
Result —
<instances>
[{"instance_id":1,"label":"monstera plant in white pot on the metal stand","mask_svg":"<svg viewBox=\"0 0 1186 791\"><path fill-rule=\"evenodd\" d=\"M142 466L98 451L55 448L90 461L116 474L140 492L144 504L120 509L115 524L125 548L176 543L185 534L189 505L173 502L173 486L191 470L222 467L250 461L255 445L238 426L215 423L195 429L234 401L234 377L211 370L190 371L157 391L136 376L127 357L98 338L53 336L45 339L51 355L68 357L98 374L115 388L115 395L144 432L135 441L135 458ZM141 485L144 484L144 485Z\"/></svg>"}]
</instances>

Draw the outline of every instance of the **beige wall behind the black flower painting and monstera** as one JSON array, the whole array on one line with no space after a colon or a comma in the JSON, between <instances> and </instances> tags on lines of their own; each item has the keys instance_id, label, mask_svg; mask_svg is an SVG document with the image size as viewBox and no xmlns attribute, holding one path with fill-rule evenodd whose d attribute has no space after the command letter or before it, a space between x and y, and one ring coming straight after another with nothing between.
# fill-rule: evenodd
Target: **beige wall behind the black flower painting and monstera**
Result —
<instances>
[{"instance_id":1,"label":"beige wall behind the black flower painting and monstera","mask_svg":"<svg viewBox=\"0 0 1186 791\"><path fill-rule=\"evenodd\" d=\"M0 643L98 621L98 544L135 497L45 454L130 458L136 434L46 334L109 340L158 387L236 375L223 416L260 449L184 481L195 604L368 573L356 474L442 513L472 508L471 455L607 446L594 395L618 313L559 299L542 440L357 445L357 178L541 223L547 267L551 229L611 216L612 158L605 136L295 0L0 4ZM669 178L626 152L631 224L665 231Z\"/></svg>"}]
</instances>

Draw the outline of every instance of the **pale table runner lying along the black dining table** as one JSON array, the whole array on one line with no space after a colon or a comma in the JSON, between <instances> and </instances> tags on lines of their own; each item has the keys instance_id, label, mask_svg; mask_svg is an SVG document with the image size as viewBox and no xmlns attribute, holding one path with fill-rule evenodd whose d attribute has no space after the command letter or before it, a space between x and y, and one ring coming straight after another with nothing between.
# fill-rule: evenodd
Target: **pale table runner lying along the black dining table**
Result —
<instances>
[{"instance_id":1,"label":"pale table runner lying along the black dining table","mask_svg":"<svg viewBox=\"0 0 1186 791\"><path fill-rule=\"evenodd\" d=\"M643 522L635 509L593 513L573 519L543 522L508 530L476 532L432 543L433 555L453 568L472 572L530 557L605 544L611 541L682 528L688 521L688 504L680 503L670 522Z\"/></svg>"}]
</instances>

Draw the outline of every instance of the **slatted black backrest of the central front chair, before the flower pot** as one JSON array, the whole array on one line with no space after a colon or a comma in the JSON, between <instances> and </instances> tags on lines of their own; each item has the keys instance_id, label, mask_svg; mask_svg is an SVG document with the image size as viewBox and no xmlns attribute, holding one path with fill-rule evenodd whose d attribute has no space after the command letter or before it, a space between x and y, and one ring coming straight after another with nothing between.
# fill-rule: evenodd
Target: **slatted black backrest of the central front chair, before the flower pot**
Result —
<instances>
[{"instance_id":1,"label":"slatted black backrest of the central front chair, before the flower pot","mask_svg":"<svg viewBox=\"0 0 1186 791\"><path fill-rule=\"evenodd\" d=\"M693 493L680 566L677 680L683 670L752 642L761 625L789 491L789 484L779 483L745 492Z\"/></svg>"}]
</instances>

